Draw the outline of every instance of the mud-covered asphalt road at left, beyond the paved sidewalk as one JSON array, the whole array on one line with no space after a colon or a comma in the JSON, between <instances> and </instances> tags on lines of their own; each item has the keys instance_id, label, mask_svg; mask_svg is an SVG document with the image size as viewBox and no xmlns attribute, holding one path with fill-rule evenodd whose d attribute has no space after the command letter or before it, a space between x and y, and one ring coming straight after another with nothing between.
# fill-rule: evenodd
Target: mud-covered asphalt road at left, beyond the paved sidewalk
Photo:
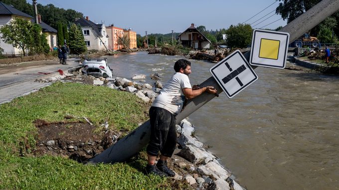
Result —
<instances>
[{"instance_id":1,"label":"mud-covered asphalt road at left, beyond the paved sidewalk","mask_svg":"<svg viewBox=\"0 0 339 190\"><path fill-rule=\"evenodd\" d=\"M10 66L0 66L0 88L14 83L34 79L44 73L65 70L78 66L79 59L67 59L67 65L60 64L57 60L44 60L37 62L16 63ZM40 72L40 73L39 73Z\"/></svg>"}]
</instances>

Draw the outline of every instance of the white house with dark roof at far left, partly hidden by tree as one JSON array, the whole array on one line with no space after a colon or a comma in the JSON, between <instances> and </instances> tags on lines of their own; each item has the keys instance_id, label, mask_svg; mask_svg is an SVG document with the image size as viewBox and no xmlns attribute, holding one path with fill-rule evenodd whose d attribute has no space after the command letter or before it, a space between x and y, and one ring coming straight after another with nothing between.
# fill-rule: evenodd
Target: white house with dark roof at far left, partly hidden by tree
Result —
<instances>
[{"instance_id":1,"label":"white house with dark roof at far left, partly hidden by tree","mask_svg":"<svg viewBox=\"0 0 339 190\"><path fill-rule=\"evenodd\" d=\"M3 25L9 24L9 22L15 18L21 18L26 20L31 20L33 17L17 10L11 5L7 5L3 2L0 2L0 27ZM1 35L1 34L0 34ZM4 43L2 39L0 40L0 47L3 49L2 54L7 55L18 55L22 50L13 47L11 44Z\"/></svg>"}]
</instances>

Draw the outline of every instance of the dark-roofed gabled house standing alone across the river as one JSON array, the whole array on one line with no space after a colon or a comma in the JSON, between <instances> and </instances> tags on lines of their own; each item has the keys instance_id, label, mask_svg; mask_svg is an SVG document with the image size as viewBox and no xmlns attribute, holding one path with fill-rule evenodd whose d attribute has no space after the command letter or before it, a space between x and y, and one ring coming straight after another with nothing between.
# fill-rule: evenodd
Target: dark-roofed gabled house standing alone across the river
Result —
<instances>
[{"instance_id":1,"label":"dark-roofed gabled house standing alone across the river","mask_svg":"<svg viewBox=\"0 0 339 190\"><path fill-rule=\"evenodd\" d=\"M201 34L192 23L184 32L178 36L178 41L184 47L193 49L209 49L211 41Z\"/></svg>"}]
</instances>

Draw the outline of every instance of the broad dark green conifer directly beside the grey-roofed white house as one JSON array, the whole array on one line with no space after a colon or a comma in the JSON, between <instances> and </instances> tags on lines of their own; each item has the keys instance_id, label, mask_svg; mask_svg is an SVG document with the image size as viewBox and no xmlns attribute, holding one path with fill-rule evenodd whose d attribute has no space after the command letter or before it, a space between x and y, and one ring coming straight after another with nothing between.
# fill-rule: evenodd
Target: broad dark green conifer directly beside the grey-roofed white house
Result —
<instances>
[{"instance_id":1,"label":"broad dark green conifer directly beside the grey-roofed white house","mask_svg":"<svg viewBox=\"0 0 339 190\"><path fill-rule=\"evenodd\" d=\"M71 52L74 54L82 54L87 50L82 30L80 26L77 26L74 23L69 27L68 46Z\"/></svg>"}]
</instances>

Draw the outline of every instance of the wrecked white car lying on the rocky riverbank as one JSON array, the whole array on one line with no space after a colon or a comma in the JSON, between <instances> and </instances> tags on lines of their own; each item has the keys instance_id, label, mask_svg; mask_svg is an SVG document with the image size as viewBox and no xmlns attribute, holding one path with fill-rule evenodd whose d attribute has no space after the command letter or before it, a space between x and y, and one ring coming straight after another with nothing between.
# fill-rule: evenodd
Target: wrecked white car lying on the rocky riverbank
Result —
<instances>
[{"instance_id":1,"label":"wrecked white car lying on the rocky riverbank","mask_svg":"<svg viewBox=\"0 0 339 190\"><path fill-rule=\"evenodd\" d=\"M102 76L104 78L113 77L113 69L108 66L107 58L86 59L82 63L82 72L92 76Z\"/></svg>"}]
</instances>

